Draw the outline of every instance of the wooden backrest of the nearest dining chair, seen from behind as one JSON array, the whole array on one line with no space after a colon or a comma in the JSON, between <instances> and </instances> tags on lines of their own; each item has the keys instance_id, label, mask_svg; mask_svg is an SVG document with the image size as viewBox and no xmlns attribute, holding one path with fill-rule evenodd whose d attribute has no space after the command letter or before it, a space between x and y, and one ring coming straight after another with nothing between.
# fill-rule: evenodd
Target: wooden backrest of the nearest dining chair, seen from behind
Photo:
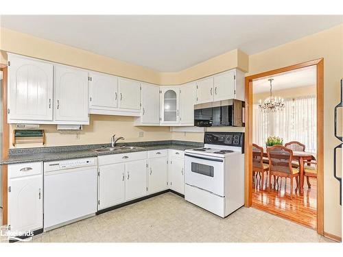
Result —
<instances>
[{"instance_id":1,"label":"wooden backrest of the nearest dining chair, seen from behind","mask_svg":"<svg viewBox=\"0 0 343 257\"><path fill-rule=\"evenodd\" d=\"M292 173L293 151L283 145L274 145L267 148L270 171Z\"/></svg>"}]
</instances>

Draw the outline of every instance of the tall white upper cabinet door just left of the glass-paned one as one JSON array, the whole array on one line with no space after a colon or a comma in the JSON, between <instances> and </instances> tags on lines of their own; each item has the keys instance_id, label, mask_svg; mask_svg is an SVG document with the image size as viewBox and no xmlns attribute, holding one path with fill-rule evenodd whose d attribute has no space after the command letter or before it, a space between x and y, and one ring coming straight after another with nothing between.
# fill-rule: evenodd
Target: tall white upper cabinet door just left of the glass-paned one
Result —
<instances>
[{"instance_id":1,"label":"tall white upper cabinet door just left of the glass-paned one","mask_svg":"<svg viewBox=\"0 0 343 257\"><path fill-rule=\"evenodd\" d=\"M159 124L160 123L160 88L150 84L141 85L141 123Z\"/></svg>"}]
</instances>

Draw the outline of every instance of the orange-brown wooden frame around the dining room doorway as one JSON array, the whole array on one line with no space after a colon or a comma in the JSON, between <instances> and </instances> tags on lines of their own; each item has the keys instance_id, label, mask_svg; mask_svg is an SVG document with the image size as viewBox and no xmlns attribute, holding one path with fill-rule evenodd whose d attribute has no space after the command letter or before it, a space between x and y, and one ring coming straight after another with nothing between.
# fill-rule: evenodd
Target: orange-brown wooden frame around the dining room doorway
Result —
<instances>
[{"instance_id":1,"label":"orange-brown wooden frame around the dining room doorway","mask_svg":"<svg viewBox=\"0 0 343 257\"><path fill-rule=\"evenodd\" d=\"M324 58L286 66L246 77L246 129L245 129L245 199L252 206L252 80L307 66L316 65L317 71L317 232L324 235Z\"/></svg>"}]
</instances>

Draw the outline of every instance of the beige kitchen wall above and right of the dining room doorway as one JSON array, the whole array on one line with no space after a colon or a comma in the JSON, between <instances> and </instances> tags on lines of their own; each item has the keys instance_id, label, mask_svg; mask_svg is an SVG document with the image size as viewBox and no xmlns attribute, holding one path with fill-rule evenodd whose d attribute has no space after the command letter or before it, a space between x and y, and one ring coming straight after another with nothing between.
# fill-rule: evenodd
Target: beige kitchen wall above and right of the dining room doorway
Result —
<instances>
[{"instance_id":1,"label":"beige kitchen wall above and right of the dining room doorway","mask_svg":"<svg viewBox=\"0 0 343 257\"><path fill-rule=\"evenodd\" d=\"M333 108L340 101L343 77L343 25L324 30L249 57L248 75L324 58L324 231L341 236L339 183L333 178Z\"/></svg>"}]
</instances>

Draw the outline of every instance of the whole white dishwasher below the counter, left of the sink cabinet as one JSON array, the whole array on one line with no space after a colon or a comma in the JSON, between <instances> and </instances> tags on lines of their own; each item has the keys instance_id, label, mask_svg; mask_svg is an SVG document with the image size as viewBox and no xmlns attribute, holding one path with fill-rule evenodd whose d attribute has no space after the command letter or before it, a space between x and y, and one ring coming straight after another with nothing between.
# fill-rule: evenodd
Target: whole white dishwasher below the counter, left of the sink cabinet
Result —
<instances>
[{"instance_id":1,"label":"whole white dishwasher below the counter, left of the sink cabinet","mask_svg":"<svg viewBox=\"0 0 343 257\"><path fill-rule=\"evenodd\" d=\"M44 162L44 230L97 211L97 158Z\"/></svg>"}]
</instances>

